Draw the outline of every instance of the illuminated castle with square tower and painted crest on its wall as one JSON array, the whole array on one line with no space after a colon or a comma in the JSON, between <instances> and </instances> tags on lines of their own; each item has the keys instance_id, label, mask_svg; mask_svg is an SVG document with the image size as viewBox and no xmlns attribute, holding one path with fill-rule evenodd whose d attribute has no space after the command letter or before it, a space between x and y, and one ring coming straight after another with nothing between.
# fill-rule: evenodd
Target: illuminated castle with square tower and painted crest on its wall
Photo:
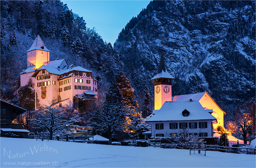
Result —
<instances>
[{"instance_id":1,"label":"illuminated castle with square tower and painted crest on its wall","mask_svg":"<svg viewBox=\"0 0 256 168\"><path fill-rule=\"evenodd\" d=\"M38 35L27 52L27 69L20 73L21 86L35 89L35 109L49 105L73 108L77 97L97 98L98 81L92 72L68 65L65 59L50 61L50 51Z\"/></svg>"}]
</instances>

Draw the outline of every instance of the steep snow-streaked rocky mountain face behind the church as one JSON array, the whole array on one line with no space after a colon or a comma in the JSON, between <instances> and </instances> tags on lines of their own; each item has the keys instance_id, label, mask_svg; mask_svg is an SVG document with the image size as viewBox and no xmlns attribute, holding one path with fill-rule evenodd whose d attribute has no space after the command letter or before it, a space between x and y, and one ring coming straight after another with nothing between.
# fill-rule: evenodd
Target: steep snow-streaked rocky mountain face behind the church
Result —
<instances>
[{"instance_id":1,"label":"steep snow-streaked rocky mountain face behind the church","mask_svg":"<svg viewBox=\"0 0 256 168\"><path fill-rule=\"evenodd\" d=\"M172 95L207 91L223 110L255 99L255 1L150 2L114 44L134 85L157 73L161 40Z\"/></svg>"}]
</instances>

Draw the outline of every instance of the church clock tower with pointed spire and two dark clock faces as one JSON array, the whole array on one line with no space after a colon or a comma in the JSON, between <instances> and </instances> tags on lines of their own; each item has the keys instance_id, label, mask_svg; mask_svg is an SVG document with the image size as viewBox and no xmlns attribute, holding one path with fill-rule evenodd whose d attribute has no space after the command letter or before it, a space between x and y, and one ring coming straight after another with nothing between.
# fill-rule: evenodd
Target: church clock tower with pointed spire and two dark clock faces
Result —
<instances>
[{"instance_id":1,"label":"church clock tower with pointed spire and two dark clock faces","mask_svg":"<svg viewBox=\"0 0 256 168\"><path fill-rule=\"evenodd\" d=\"M150 79L151 81L154 81L155 86L155 110L159 110L166 101L171 101L171 80L173 79L175 78L166 70L162 45L158 73Z\"/></svg>"}]
</instances>

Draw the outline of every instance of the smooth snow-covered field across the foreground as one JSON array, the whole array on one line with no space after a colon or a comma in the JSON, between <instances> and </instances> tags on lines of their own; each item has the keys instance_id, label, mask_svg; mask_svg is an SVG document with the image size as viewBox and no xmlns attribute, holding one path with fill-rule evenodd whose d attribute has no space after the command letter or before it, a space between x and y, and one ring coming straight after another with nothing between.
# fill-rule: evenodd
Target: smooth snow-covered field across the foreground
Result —
<instances>
[{"instance_id":1,"label":"smooth snow-covered field across the foreground","mask_svg":"<svg viewBox=\"0 0 256 168\"><path fill-rule=\"evenodd\" d=\"M0 167L255 167L255 155L0 138ZM11 164L11 165L8 165ZM19 164L19 165L18 165ZM26 165L24 165L26 164Z\"/></svg>"}]
</instances>

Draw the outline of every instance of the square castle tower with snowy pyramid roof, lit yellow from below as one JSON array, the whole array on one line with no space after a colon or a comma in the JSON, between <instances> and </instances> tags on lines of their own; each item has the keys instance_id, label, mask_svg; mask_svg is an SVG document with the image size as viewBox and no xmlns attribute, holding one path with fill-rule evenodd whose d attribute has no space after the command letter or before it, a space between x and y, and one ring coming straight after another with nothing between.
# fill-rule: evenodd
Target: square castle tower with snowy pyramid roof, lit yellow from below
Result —
<instances>
[{"instance_id":1,"label":"square castle tower with snowy pyramid roof, lit yellow from below","mask_svg":"<svg viewBox=\"0 0 256 168\"><path fill-rule=\"evenodd\" d=\"M50 50L45 47L41 37L37 35L35 41L27 52L27 67L34 66L37 69L42 65L46 65L50 60Z\"/></svg>"}]
</instances>

